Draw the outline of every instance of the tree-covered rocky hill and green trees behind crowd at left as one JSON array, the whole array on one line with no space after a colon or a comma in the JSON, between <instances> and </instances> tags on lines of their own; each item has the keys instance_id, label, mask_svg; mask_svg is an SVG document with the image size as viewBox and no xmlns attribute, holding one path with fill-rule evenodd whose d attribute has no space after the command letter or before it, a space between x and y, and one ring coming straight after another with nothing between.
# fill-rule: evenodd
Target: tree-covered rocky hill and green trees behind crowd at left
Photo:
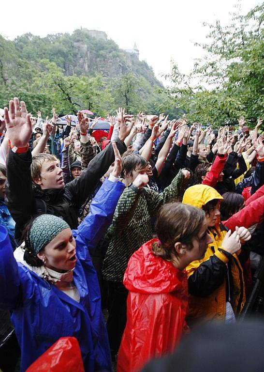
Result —
<instances>
[{"instance_id":1,"label":"tree-covered rocky hill and green trees behind crowd at left","mask_svg":"<svg viewBox=\"0 0 264 372\"><path fill-rule=\"evenodd\" d=\"M85 30L44 38L27 33L14 42L0 36L0 107L18 96L30 112L44 115L52 107L61 114L89 109L103 116L118 106L153 112L161 87L147 62Z\"/></svg>"}]
</instances>

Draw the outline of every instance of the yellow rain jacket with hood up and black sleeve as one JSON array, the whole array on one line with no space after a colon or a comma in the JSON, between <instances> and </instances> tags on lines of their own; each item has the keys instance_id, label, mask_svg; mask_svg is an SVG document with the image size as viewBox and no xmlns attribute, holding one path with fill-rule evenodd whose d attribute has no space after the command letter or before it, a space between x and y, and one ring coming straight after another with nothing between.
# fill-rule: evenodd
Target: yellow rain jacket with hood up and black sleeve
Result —
<instances>
[{"instance_id":1,"label":"yellow rain jacket with hood up and black sleeve","mask_svg":"<svg viewBox=\"0 0 264 372\"><path fill-rule=\"evenodd\" d=\"M223 200L213 187L195 185L185 191L182 202L202 208L213 199ZM226 301L238 315L246 300L243 269L237 255L231 255L221 247L226 228L219 221L209 228L209 233L213 242L208 245L205 257L191 262L186 268L191 321L223 320Z\"/></svg>"}]
</instances>

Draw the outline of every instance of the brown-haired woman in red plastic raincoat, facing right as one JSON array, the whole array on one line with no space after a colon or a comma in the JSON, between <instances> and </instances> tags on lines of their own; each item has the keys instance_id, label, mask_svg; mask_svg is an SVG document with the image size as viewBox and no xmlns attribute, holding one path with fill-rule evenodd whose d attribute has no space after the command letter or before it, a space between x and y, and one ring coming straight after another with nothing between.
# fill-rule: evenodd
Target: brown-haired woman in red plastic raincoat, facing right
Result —
<instances>
[{"instance_id":1,"label":"brown-haired woman in red plastic raincoat, facing right","mask_svg":"<svg viewBox=\"0 0 264 372\"><path fill-rule=\"evenodd\" d=\"M127 324L117 372L138 371L152 357L173 352L186 326L184 269L203 259L212 242L204 211L182 203L161 207L156 230L158 239L133 253L124 275L129 290Z\"/></svg>"}]
</instances>

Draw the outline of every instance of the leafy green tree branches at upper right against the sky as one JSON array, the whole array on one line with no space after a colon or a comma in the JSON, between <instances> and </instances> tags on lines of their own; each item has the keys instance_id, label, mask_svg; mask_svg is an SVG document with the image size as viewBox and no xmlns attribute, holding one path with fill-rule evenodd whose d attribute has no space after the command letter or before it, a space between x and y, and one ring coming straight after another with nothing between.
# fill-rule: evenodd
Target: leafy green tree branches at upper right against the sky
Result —
<instances>
[{"instance_id":1,"label":"leafy green tree branches at upper right against the sky","mask_svg":"<svg viewBox=\"0 0 264 372\"><path fill-rule=\"evenodd\" d=\"M162 94L163 110L178 107L193 121L235 124L244 116L248 125L264 116L264 3L248 15L233 15L222 27L207 25L208 43L202 45L206 58L197 61L189 75L175 64L167 76L173 84Z\"/></svg>"}]
</instances>

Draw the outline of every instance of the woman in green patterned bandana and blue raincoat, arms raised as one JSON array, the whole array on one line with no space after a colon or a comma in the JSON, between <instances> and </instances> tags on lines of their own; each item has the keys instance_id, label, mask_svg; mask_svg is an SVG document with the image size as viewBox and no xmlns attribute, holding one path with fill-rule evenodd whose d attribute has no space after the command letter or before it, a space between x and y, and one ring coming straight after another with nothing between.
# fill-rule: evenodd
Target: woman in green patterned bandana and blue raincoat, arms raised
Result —
<instances>
[{"instance_id":1,"label":"woman in green patterned bandana and blue raincoat, arms raised","mask_svg":"<svg viewBox=\"0 0 264 372\"><path fill-rule=\"evenodd\" d=\"M85 371L111 371L90 251L106 232L125 187L118 182L121 158L116 156L117 162L77 230L57 216L35 217L14 258L7 231L0 226L0 308L13 311L21 371L65 336L78 340Z\"/></svg>"}]
</instances>

